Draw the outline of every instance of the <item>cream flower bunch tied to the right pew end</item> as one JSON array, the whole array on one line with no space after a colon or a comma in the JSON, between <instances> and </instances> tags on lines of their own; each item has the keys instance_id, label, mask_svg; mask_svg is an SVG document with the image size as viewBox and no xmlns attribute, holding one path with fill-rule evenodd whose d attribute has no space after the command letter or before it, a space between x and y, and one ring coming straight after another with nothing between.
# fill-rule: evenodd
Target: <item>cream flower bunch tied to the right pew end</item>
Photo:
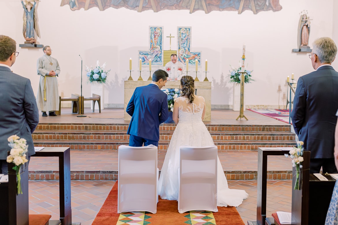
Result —
<instances>
[{"instance_id":1,"label":"cream flower bunch tied to the right pew end","mask_svg":"<svg viewBox=\"0 0 338 225\"><path fill-rule=\"evenodd\" d=\"M292 159L292 167L296 167L296 183L294 186L294 190L299 190L300 185L299 185L299 172L300 172L300 168L303 167L303 165L301 165L304 161L303 158L303 152L304 152L304 148L303 148L303 141L297 141L297 147L293 147L293 149L291 149L289 151L289 154L284 154L286 158L290 158Z\"/></svg>"}]
</instances>

